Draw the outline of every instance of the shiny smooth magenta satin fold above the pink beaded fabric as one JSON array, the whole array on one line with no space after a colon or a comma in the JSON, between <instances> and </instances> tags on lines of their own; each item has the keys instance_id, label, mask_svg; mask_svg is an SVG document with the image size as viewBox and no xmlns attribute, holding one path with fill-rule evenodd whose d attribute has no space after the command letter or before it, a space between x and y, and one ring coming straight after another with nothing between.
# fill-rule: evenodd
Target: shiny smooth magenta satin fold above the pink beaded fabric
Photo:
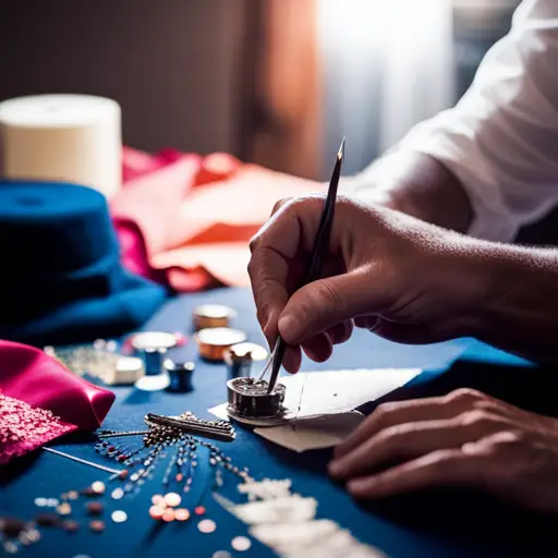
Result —
<instances>
[{"instance_id":1,"label":"shiny smooth magenta satin fold above the pink beaded fabric","mask_svg":"<svg viewBox=\"0 0 558 558\"><path fill-rule=\"evenodd\" d=\"M44 351L2 340L0 391L84 430L98 428L114 401L114 393L75 376Z\"/></svg>"}]
</instances>

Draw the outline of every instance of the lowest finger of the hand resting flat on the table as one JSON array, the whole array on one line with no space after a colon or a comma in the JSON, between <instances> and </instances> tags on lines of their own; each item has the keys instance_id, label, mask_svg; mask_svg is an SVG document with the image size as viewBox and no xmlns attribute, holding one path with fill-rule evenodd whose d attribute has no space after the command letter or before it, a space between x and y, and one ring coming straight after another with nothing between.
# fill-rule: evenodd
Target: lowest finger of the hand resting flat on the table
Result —
<instances>
[{"instance_id":1,"label":"lowest finger of the hand resting flat on the table","mask_svg":"<svg viewBox=\"0 0 558 558\"><path fill-rule=\"evenodd\" d=\"M351 481L347 487L359 499L384 498L432 486L484 484L490 458L440 450L391 468L377 475Z\"/></svg>"}]
</instances>

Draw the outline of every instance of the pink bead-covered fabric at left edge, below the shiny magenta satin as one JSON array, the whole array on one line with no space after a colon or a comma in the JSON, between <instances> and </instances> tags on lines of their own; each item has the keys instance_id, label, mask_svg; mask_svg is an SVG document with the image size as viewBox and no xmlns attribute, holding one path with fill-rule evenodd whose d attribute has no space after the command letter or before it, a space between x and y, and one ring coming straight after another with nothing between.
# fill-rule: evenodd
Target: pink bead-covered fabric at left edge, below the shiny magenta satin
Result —
<instances>
[{"instance_id":1,"label":"pink bead-covered fabric at left edge, below the shiny magenta satin","mask_svg":"<svg viewBox=\"0 0 558 558\"><path fill-rule=\"evenodd\" d=\"M0 392L0 464L76 429L50 411Z\"/></svg>"}]
</instances>

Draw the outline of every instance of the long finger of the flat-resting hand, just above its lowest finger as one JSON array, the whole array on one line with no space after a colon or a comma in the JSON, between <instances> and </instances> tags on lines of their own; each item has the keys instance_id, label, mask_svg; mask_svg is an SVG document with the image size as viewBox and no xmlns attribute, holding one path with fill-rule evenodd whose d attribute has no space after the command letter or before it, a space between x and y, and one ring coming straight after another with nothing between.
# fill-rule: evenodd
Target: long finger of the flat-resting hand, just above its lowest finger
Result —
<instances>
[{"instance_id":1,"label":"long finger of the flat-resting hand, just above its lowest finger","mask_svg":"<svg viewBox=\"0 0 558 558\"><path fill-rule=\"evenodd\" d=\"M459 448L465 442L492 435L505 426L507 422L504 418L483 411L468 411L448 420L390 426L342 458L332 461L329 472L337 478L352 478L401 459Z\"/></svg>"}]
</instances>

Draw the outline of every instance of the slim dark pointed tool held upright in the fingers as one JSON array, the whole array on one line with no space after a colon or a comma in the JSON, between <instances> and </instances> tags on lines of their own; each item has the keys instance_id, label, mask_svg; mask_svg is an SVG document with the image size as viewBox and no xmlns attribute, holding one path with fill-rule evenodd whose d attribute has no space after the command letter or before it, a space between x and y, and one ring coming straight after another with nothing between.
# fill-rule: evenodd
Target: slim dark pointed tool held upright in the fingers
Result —
<instances>
[{"instance_id":1,"label":"slim dark pointed tool held upright in the fingers","mask_svg":"<svg viewBox=\"0 0 558 558\"><path fill-rule=\"evenodd\" d=\"M322 217L319 220L318 231L316 233L316 238L314 240L314 250L312 251L312 262L308 267L308 271L306 275L306 280L303 284L311 283L315 281L319 277L319 272L322 269L322 262L324 256L326 255L326 251L329 246L329 236L331 234L331 226L333 223L333 215L336 209L336 199L337 199L337 187L339 185L339 178L341 175L341 166L344 157L344 137L341 143L341 147L336 157L336 163L333 167L333 172L331 174L331 180L329 181L329 187L327 190L327 197L324 204L324 209L322 210ZM284 351L287 350L287 343L279 336L269 357L268 364L264 368L265 372L271 365L271 378L269 379L269 386L267 388L267 393L271 393L277 384L277 378L279 376L279 369L281 368Z\"/></svg>"}]
</instances>

